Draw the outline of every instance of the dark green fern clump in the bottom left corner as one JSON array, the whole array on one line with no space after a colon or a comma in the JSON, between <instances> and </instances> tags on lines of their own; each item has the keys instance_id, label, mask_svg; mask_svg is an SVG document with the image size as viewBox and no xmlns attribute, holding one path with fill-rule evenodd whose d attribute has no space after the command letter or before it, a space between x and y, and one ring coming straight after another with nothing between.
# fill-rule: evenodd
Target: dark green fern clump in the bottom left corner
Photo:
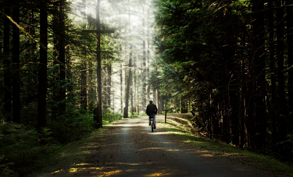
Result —
<instances>
[{"instance_id":1,"label":"dark green fern clump in the bottom left corner","mask_svg":"<svg viewBox=\"0 0 293 177\"><path fill-rule=\"evenodd\" d=\"M34 170L40 144L37 132L24 125L2 121L0 124L0 176L25 176Z\"/></svg>"}]
</instances>

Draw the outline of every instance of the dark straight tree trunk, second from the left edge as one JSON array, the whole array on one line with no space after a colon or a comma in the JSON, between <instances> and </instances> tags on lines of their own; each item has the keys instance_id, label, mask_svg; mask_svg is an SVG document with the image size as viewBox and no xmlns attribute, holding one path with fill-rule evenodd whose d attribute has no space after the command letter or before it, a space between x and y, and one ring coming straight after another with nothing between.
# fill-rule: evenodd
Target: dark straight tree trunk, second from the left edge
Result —
<instances>
[{"instance_id":1,"label":"dark straight tree trunk, second from the left edge","mask_svg":"<svg viewBox=\"0 0 293 177\"><path fill-rule=\"evenodd\" d=\"M19 6L13 8L13 20L19 24ZM19 29L13 24L12 33L12 62L14 74L12 76L12 107L13 122L20 123L20 77L19 77L19 47L20 36Z\"/></svg>"}]
</instances>

